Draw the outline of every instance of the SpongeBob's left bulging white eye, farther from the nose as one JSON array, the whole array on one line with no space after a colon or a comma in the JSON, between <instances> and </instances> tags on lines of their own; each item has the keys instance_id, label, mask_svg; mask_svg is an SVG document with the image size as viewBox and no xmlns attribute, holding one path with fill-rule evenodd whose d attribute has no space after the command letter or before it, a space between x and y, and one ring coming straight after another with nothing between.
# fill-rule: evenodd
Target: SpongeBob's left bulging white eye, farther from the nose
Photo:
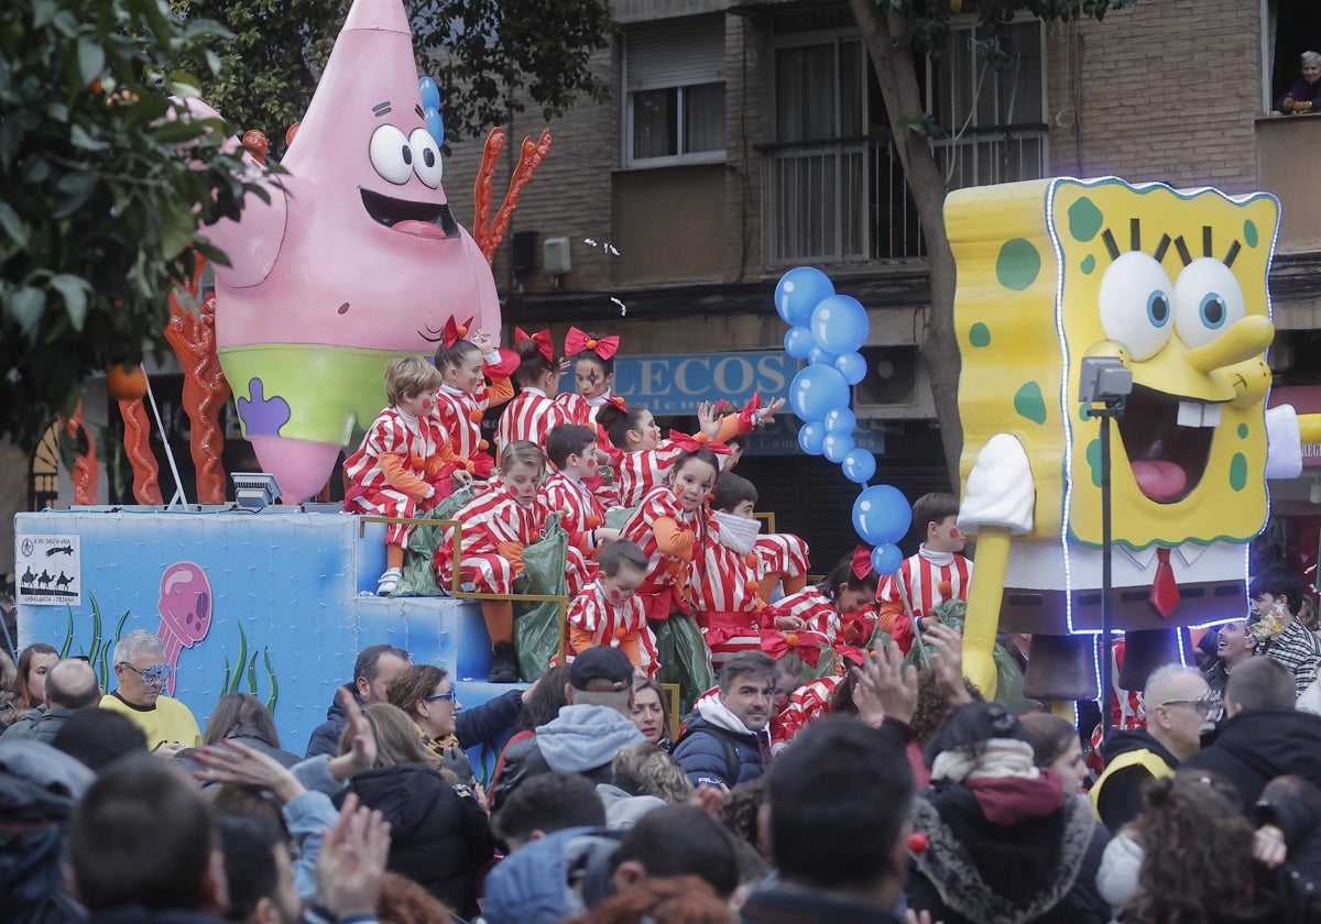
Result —
<instances>
[{"instance_id":1,"label":"SpongeBob's left bulging white eye, farther from the nose","mask_svg":"<svg viewBox=\"0 0 1321 924\"><path fill-rule=\"evenodd\" d=\"M1174 286L1147 253L1120 253L1100 280L1100 327L1137 360L1151 359L1169 341Z\"/></svg>"}]
</instances>

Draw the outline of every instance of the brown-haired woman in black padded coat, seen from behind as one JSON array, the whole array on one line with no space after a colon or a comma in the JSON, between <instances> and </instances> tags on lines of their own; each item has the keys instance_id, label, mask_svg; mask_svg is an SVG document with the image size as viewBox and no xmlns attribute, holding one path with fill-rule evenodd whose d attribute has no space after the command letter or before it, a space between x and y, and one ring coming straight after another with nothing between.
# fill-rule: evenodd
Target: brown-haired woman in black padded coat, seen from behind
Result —
<instances>
[{"instance_id":1,"label":"brown-haired woman in black padded coat, seen from behind","mask_svg":"<svg viewBox=\"0 0 1321 924\"><path fill-rule=\"evenodd\" d=\"M379 756L349 788L390 822L387 869L423 886L456 915L474 917L477 879L495 853L486 812L468 787L441 776L439 760L403 710L375 702L362 711ZM343 738L339 750L347 750Z\"/></svg>"}]
</instances>

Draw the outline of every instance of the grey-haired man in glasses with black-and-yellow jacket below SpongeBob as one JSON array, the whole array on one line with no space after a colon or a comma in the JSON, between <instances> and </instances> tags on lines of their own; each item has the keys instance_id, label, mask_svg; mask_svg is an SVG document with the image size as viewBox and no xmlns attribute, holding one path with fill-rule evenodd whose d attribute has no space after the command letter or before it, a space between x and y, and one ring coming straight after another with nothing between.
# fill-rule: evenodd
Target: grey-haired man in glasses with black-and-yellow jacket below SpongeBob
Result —
<instances>
[{"instance_id":1,"label":"grey-haired man in glasses with black-and-yellow jacket below SpongeBob","mask_svg":"<svg viewBox=\"0 0 1321 924\"><path fill-rule=\"evenodd\" d=\"M1197 754L1202 733L1221 717L1219 700L1194 668L1157 668L1145 690L1147 729L1111 731L1102 746L1106 767L1089 793L1096 817L1111 833L1141 812L1143 783L1173 776L1181 762Z\"/></svg>"}]
</instances>

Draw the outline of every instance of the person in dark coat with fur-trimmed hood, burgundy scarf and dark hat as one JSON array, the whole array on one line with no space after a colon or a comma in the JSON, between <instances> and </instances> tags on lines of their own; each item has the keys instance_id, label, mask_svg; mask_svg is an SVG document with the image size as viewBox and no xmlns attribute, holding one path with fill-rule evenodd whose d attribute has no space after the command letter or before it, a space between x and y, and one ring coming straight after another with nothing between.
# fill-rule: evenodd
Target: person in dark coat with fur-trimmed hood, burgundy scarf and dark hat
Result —
<instances>
[{"instance_id":1,"label":"person in dark coat with fur-trimmed hood, burgundy scarf and dark hat","mask_svg":"<svg viewBox=\"0 0 1321 924\"><path fill-rule=\"evenodd\" d=\"M1110 841L1086 800L1033 766L1004 706L959 706L927 744L913 800L909 907L945 924L1106 924L1096 870Z\"/></svg>"}]
</instances>

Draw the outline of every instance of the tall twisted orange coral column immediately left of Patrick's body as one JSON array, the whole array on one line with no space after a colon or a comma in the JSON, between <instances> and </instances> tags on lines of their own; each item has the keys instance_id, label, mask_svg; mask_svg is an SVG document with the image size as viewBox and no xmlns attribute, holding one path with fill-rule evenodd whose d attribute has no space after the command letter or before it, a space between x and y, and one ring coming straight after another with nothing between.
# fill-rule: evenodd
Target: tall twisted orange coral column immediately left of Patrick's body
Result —
<instances>
[{"instance_id":1,"label":"tall twisted orange coral column immediately left of Patrick's body","mask_svg":"<svg viewBox=\"0 0 1321 924\"><path fill-rule=\"evenodd\" d=\"M181 286L192 294L197 305L197 292L206 261L198 256L190 284ZM221 432L221 408L230 400L232 389L221 371L215 355L215 293L209 292L201 310L180 304L180 290L169 296L169 325L165 339L174 347L184 367L184 411L192 424L189 449L197 469L197 500L202 504L225 503L225 470L221 451L225 434Z\"/></svg>"}]
</instances>

